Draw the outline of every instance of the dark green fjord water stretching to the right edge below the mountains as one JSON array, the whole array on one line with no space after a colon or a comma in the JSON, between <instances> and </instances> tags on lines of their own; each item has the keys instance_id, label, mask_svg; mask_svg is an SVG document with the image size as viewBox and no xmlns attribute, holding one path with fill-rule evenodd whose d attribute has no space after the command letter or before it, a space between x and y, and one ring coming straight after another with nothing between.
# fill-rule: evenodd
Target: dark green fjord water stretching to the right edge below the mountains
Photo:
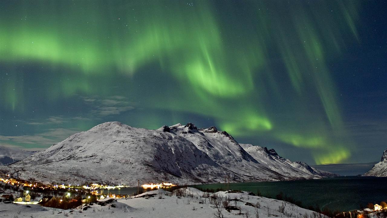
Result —
<instances>
[{"instance_id":1,"label":"dark green fjord water stretching to the right edge below the mountains","mask_svg":"<svg viewBox=\"0 0 387 218\"><path fill-rule=\"evenodd\" d=\"M224 183L192 185L200 189L224 189ZM365 207L368 202L379 204L387 200L387 177L340 176L314 180L279 182L230 183L229 189L250 191L259 190L264 197L283 196L301 201L303 208L308 206L327 207L333 211L350 211Z\"/></svg>"}]
</instances>

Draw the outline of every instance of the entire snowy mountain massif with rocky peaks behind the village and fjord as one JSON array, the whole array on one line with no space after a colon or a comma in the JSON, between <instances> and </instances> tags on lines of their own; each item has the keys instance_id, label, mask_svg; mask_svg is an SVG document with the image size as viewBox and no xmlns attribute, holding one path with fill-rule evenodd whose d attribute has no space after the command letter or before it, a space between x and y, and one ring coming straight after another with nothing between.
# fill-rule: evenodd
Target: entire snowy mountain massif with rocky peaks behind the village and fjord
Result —
<instances>
[{"instance_id":1,"label":"entire snowy mountain massif with rocky peaks behind the village and fjord","mask_svg":"<svg viewBox=\"0 0 387 218\"><path fill-rule=\"evenodd\" d=\"M245 149L243 149L245 147ZM13 177L43 183L90 182L137 185L295 180L334 174L291 162L273 150L243 145L214 126L134 128L102 123L48 149L0 169Z\"/></svg>"}]
</instances>

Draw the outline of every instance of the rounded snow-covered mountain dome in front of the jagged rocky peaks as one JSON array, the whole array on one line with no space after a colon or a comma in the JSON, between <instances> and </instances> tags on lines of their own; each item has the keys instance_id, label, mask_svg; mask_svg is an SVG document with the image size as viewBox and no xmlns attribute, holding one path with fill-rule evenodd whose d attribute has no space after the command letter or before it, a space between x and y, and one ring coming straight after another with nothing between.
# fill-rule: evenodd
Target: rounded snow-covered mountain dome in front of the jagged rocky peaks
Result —
<instances>
[{"instance_id":1,"label":"rounded snow-covered mountain dome in front of the jagged rocky peaks","mask_svg":"<svg viewBox=\"0 0 387 218\"><path fill-rule=\"evenodd\" d=\"M225 174L183 137L118 122L76 133L10 167L19 178L66 183L201 183Z\"/></svg>"}]
</instances>

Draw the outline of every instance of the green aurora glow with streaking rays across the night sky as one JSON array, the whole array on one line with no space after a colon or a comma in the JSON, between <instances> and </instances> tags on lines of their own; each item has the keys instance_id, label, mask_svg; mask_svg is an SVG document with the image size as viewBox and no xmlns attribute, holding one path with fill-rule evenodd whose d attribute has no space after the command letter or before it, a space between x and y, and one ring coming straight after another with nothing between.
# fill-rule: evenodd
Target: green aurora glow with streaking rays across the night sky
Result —
<instances>
[{"instance_id":1,"label":"green aurora glow with streaking rays across the night sky","mask_svg":"<svg viewBox=\"0 0 387 218\"><path fill-rule=\"evenodd\" d=\"M33 77L48 102L121 94L146 111L211 118L237 140L257 135L308 149L317 164L348 159L354 145L329 62L361 41L360 3L248 1L243 14L235 4L8 2L1 108L26 111L21 80ZM43 69L27 75L11 67L31 64ZM142 127L163 124L151 114Z\"/></svg>"}]
</instances>

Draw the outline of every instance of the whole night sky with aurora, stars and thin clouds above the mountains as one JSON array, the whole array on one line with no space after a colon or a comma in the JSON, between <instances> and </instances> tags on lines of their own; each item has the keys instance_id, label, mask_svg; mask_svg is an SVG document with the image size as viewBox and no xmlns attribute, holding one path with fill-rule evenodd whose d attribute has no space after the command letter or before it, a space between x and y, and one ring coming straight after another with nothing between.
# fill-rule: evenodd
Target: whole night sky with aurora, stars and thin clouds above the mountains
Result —
<instances>
[{"instance_id":1,"label":"whole night sky with aurora, stars and thin clouds above the mountains","mask_svg":"<svg viewBox=\"0 0 387 218\"><path fill-rule=\"evenodd\" d=\"M216 126L309 164L387 147L386 1L1 1L0 143Z\"/></svg>"}]
</instances>

